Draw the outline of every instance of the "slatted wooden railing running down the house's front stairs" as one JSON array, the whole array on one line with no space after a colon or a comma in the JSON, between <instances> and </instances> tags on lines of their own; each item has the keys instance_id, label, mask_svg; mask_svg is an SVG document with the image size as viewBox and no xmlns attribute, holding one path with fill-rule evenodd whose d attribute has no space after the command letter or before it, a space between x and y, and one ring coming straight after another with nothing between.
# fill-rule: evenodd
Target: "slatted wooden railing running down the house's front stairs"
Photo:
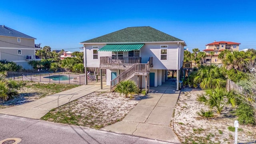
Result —
<instances>
[{"instance_id":1,"label":"slatted wooden railing running down the house's front stairs","mask_svg":"<svg viewBox=\"0 0 256 144\"><path fill-rule=\"evenodd\" d=\"M110 90L114 88L119 82L125 80L128 76L132 75L134 72L149 72L151 68L152 57L149 58L146 64L136 63L133 64L130 68L126 69L124 72L119 74L116 78L110 82ZM153 64L152 64L153 65Z\"/></svg>"}]
</instances>

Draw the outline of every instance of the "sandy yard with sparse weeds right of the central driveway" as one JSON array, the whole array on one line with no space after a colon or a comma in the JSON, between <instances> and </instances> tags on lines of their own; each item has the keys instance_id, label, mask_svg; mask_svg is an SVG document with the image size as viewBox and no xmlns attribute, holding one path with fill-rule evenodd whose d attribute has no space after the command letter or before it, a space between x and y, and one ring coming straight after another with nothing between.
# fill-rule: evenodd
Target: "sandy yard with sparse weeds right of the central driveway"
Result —
<instances>
[{"instance_id":1,"label":"sandy yard with sparse weeds right of the central driveway","mask_svg":"<svg viewBox=\"0 0 256 144\"><path fill-rule=\"evenodd\" d=\"M228 130L234 126L236 118L229 110L225 114L217 115L215 118L205 120L200 118L196 112L208 110L204 104L200 104L196 98L202 90L184 88L176 104L171 127L180 138L182 143L193 144L232 144L235 133ZM238 132L238 142L251 142L256 140L256 126L239 125L242 128ZM196 143L194 143L196 142Z\"/></svg>"}]
</instances>

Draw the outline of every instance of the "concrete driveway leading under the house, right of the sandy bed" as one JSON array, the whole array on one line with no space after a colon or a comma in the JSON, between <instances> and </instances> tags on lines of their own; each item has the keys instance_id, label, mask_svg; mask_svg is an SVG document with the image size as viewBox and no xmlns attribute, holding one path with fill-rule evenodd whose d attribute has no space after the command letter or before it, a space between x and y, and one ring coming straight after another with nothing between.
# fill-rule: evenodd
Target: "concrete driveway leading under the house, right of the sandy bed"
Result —
<instances>
[{"instance_id":1,"label":"concrete driveway leading under the house, right of the sandy bed","mask_svg":"<svg viewBox=\"0 0 256 144\"><path fill-rule=\"evenodd\" d=\"M102 130L180 143L170 128L172 113L180 94L175 89L175 82L172 81L167 81L162 86L151 87L146 98L141 100L122 121Z\"/></svg>"}]
</instances>

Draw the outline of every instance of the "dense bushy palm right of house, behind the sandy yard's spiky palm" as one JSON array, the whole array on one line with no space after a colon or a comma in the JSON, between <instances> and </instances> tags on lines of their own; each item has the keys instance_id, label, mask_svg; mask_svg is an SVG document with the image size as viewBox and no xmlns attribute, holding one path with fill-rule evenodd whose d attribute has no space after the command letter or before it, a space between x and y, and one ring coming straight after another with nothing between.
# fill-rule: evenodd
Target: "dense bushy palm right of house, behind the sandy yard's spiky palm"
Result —
<instances>
[{"instance_id":1,"label":"dense bushy palm right of house, behind the sandy yard's spiky palm","mask_svg":"<svg viewBox=\"0 0 256 144\"><path fill-rule=\"evenodd\" d=\"M226 86L226 78L217 66L204 66L198 68L194 83L199 84L200 88L221 88Z\"/></svg>"}]
</instances>

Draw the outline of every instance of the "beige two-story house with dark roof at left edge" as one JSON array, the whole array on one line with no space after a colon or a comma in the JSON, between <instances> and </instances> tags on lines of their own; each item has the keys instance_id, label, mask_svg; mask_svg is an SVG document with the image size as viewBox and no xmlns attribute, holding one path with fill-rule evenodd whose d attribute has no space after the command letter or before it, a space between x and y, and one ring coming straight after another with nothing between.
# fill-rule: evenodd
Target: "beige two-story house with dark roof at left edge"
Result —
<instances>
[{"instance_id":1,"label":"beige two-story house with dark roof at left edge","mask_svg":"<svg viewBox=\"0 0 256 144\"><path fill-rule=\"evenodd\" d=\"M40 44L35 44L35 39L0 25L0 60L12 61L25 69L31 69L28 61L40 60L35 56L35 51L40 50Z\"/></svg>"}]
</instances>

